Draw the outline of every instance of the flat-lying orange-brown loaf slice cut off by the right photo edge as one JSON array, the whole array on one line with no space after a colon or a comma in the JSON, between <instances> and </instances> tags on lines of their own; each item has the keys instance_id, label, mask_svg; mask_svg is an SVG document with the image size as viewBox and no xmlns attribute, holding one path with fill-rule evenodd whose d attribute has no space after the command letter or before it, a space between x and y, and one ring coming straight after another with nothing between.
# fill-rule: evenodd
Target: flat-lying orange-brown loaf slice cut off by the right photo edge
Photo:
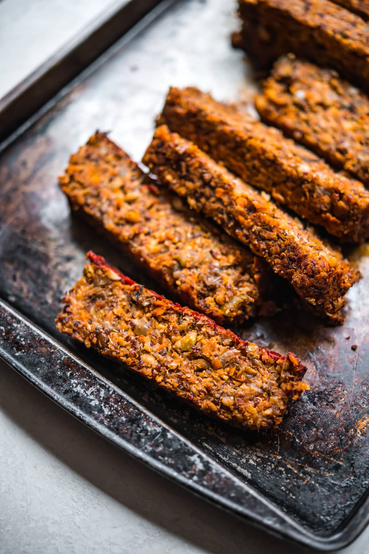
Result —
<instances>
[{"instance_id":1,"label":"flat-lying orange-brown loaf slice cut off by the right photo edge","mask_svg":"<svg viewBox=\"0 0 369 554\"><path fill-rule=\"evenodd\" d=\"M335 70L280 58L255 98L262 119L369 186L369 98Z\"/></svg>"}]
</instances>

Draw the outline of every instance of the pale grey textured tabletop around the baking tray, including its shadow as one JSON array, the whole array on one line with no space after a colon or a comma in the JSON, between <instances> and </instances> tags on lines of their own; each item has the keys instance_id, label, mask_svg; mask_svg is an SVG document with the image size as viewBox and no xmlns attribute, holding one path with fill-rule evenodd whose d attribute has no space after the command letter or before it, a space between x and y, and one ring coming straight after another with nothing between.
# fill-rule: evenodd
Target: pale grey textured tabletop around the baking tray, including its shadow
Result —
<instances>
[{"instance_id":1,"label":"pale grey textured tabletop around the baking tray, including its shadow","mask_svg":"<svg viewBox=\"0 0 369 554\"><path fill-rule=\"evenodd\" d=\"M0 97L108 4L0 1ZM345 552L368 545L369 530ZM0 361L0 554L263 550L306 552L144 468Z\"/></svg>"}]
</instances>

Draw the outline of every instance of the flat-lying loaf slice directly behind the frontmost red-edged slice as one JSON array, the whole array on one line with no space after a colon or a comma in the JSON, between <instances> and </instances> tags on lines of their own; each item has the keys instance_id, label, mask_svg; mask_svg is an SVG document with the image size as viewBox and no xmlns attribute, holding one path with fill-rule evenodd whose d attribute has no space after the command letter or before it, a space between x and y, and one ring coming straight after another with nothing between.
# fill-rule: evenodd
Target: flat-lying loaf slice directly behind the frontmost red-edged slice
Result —
<instances>
[{"instance_id":1,"label":"flat-lying loaf slice directly behind the frontmost red-edged slice","mask_svg":"<svg viewBox=\"0 0 369 554\"><path fill-rule=\"evenodd\" d=\"M124 247L184 304L217 322L272 315L272 288L264 260L157 187L129 156L96 133L72 155L60 177L74 209Z\"/></svg>"}]
</instances>

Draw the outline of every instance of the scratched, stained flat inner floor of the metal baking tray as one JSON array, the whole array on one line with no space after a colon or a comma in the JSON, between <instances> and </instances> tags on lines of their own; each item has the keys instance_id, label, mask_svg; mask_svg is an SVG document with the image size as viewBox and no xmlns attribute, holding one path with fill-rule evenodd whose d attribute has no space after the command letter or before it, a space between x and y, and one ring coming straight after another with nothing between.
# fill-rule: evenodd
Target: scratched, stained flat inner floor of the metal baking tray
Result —
<instances>
[{"instance_id":1,"label":"scratched, stained flat inner floor of the metal baking tray","mask_svg":"<svg viewBox=\"0 0 369 554\"><path fill-rule=\"evenodd\" d=\"M348 295L344 326L324 327L292 309L238 329L243 338L273 350L293 350L309 368L311 392L293 404L278 431L245 434L206 419L124 369L117 372L54 329L60 298L79 278L89 249L158 290L72 216L57 176L96 129L110 130L112 139L140 160L169 85L199 86L222 100L244 99L253 90L250 67L230 47L235 5L226 4L176 2L148 28L113 47L2 153L0 295L306 530L328 537L369 487L365 246L348 252L363 278Z\"/></svg>"}]
</instances>

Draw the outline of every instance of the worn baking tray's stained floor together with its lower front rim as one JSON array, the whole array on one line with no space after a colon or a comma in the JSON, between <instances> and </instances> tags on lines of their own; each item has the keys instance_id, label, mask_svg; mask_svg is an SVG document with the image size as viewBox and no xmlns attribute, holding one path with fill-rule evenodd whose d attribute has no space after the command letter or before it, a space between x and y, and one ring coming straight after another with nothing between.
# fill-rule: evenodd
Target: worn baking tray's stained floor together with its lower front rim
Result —
<instances>
[{"instance_id":1,"label":"worn baking tray's stained floor together with its lower front rim","mask_svg":"<svg viewBox=\"0 0 369 554\"><path fill-rule=\"evenodd\" d=\"M3 143L0 355L153 469L263 529L329 551L354 540L369 520L366 246L347 252L363 278L348 295L344 326L324 327L290 310L237 330L293 350L309 367L311 392L273 432L207 419L54 327L89 249L158 289L70 213L57 183L70 153L98 128L140 160L169 85L196 85L229 100L250 90L250 69L230 46L234 10L223 0L160 3Z\"/></svg>"}]
</instances>

